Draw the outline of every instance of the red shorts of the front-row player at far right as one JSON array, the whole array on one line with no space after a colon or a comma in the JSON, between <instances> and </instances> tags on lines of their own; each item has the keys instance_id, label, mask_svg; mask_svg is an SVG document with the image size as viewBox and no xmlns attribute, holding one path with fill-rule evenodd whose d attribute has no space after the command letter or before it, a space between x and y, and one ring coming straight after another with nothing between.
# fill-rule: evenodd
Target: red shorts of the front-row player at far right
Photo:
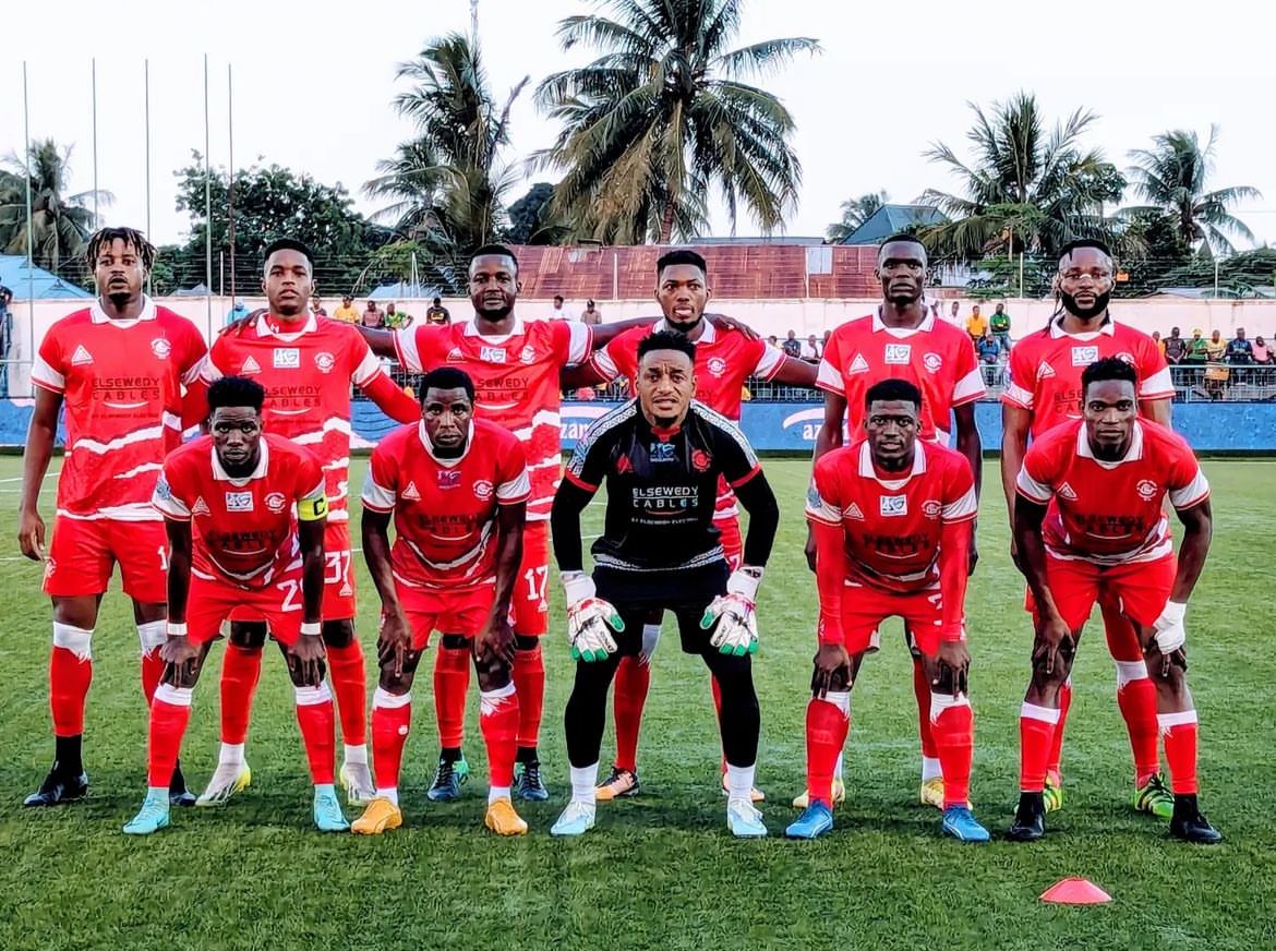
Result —
<instances>
[{"instance_id":1,"label":"red shorts of the front-row player at far right","mask_svg":"<svg viewBox=\"0 0 1276 951\"><path fill-rule=\"evenodd\" d=\"M1090 619L1090 610L1102 596L1119 605L1120 613L1139 627L1151 627L1170 600L1174 555L1155 562L1100 565L1046 555L1045 580L1059 614L1073 631Z\"/></svg>"}]
</instances>

